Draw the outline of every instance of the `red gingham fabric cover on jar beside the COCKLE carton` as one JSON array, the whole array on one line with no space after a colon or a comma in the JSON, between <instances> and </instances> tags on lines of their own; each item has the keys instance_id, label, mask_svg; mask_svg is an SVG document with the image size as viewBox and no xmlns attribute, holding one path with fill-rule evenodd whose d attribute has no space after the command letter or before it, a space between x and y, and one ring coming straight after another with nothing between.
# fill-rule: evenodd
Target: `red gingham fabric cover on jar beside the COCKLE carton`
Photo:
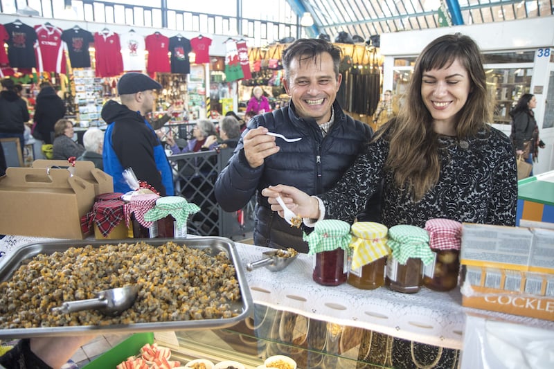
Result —
<instances>
[{"instance_id":1,"label":"red gingham fabric cover on jar beside the COCKLE carton","mask_svg":"<svg viewBox=\"0 0 554 369\"><path fill-rule=\"evenodd\" d=\"M462 244L462 224L451 219L435 218L425 222L429 246L434 250L459 250Z\"/></svg>"}]
</instances>

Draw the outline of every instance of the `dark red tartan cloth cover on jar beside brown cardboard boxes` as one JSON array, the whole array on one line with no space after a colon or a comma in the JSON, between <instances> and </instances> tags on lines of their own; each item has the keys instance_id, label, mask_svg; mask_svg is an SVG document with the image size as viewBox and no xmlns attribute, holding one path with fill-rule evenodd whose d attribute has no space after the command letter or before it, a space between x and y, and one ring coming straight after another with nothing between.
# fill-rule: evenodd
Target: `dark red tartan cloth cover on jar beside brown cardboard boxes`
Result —
<instances>
[{"instance_id":1,"label":"dark red tartan cloth cover on jar beside brown cardboard boxes","mask_svg":"<svg viewBox=\"0 0 554 369\"><path fill-rule=\"evenodd\" d=\"M84 233L88 233L93 224L98 226L98 230L104 237L107 237L112 229L118 226L123 217L123 200L100 200L92 206L92 210L81 217L81 228Z\"/></svg>"}]
</instances>

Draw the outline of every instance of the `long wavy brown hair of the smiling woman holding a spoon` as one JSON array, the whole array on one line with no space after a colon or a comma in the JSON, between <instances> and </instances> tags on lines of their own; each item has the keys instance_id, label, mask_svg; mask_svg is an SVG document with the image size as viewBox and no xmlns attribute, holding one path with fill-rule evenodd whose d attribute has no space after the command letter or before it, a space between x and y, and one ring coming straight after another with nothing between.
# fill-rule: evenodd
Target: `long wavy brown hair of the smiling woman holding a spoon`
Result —
<instances>
[{"instance_id":1,"label":"long wavy brown hair of the smiling woman holding a spoon","mask_svg":"<svg viewBox=\"0 0 554 369\"><path fill-rule=\"evenodd\" d=\"M492 121L491 98L487 92L485 71L479 46L460 33L438 37L427 45L415 61L413 75L396 119L382 129L390 140L390 152L385 167L394 173L395 185L409 190L415 201L438 181L440 161L438 134L433 129L433 117L421 96L422 75L433 69L447 68L458 60L470 76L470 95L458 112L456 136L473 137Z\"/></svg>"}]
</instances>

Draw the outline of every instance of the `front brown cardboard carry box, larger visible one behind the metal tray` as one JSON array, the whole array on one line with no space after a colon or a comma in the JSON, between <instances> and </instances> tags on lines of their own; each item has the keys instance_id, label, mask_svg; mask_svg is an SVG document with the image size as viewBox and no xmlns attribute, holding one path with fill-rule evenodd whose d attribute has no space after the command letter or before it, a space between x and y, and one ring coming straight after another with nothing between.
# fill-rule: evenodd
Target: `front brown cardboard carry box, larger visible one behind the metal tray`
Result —
<instances>
[{"instance_id":1,"label":"front brown cardboard carry box, larger visible one behind the metal tray","mask_svg":"<svg viewBox=\"0 0 554 369\"><path fill-rule=\"evenodd\" d=\"M8 168L0 177L0 234L82 240L94 186L66 169Z\"/></svg>"}]
</instances>

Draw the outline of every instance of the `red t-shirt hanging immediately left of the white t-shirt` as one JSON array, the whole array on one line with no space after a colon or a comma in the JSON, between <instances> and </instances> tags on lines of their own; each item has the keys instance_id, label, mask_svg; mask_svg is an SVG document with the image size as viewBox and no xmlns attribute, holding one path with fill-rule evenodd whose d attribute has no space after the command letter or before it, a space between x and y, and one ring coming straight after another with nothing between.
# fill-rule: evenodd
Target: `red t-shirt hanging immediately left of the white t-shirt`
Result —
<instances>
[{"instance_id":1,"label":"red t-shirt hanging immediately left of the white t-shirt","mask_svg":"<svg viewBox=\"0 0 554 369\"><path fill-rule=\"evenodd\" d=\"M104 29L94 34L96 77L114 77L123 73L119 35Z\"/></svg>"}]
</instances>

